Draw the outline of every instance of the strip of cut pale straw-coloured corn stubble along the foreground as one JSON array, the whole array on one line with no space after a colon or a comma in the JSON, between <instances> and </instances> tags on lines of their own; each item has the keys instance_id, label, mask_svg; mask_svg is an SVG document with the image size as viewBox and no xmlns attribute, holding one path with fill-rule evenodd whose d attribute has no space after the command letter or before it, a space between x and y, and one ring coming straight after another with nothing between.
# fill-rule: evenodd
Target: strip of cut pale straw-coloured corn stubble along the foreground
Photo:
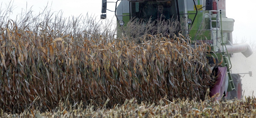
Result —
<instances>
[{"instance_id":1,"label":"strip of cut pale straw-coloured corn stubble along the foreground","mask_svg":"<svg viewBox=\"0 0 256 118\"><path fill-rule=\"evenodd\" d=\"M204 101L196 100L173 100L170 102L162 99L159 103L138 103L135 99L126 100L121 106L114 106L112 109L93 109L89 105L83 108L83 104L78 108L67 110L63 104L57 108L56 112L40 113L38 109L31 108L22 114L0 113L2 118L255 118L256 99L247 98L245 101Z\"/></svg>"}]
</instances>

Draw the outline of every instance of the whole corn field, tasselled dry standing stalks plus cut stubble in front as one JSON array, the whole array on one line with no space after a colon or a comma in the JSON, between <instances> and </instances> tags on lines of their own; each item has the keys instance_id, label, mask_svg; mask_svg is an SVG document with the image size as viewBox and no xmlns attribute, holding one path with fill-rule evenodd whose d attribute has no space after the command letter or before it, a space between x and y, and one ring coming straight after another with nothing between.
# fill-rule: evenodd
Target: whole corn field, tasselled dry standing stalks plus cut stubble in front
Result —
<instances>
[{"instance_id":1,"label":"whole corn field, tasselled dry standing stalks plus cut stubble in front","mask_svg":"<svg viewBox=\"0 0 256 118\"><path fill-rule=\"evenodd\" d=\"M1 117L255 114L255 98L208 97L215 79L209 47L192 48L177 22L164 27L168 36L159 26L136 22L116 35L111 22L88 14L62 18L45 8L37 16L25 11L17 21L0 15Z\"/></svg>"}]
</instances>

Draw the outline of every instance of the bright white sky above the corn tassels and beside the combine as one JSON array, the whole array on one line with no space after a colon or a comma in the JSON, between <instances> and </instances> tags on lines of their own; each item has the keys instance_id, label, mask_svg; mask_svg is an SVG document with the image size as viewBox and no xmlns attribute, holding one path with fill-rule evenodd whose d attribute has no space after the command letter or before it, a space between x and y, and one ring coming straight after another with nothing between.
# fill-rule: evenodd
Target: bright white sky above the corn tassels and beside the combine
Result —
<instances>
[{"instance_id":1,"label":"bright white sky above the corn tassels and beside the combine","mask_svg":"<svg viewBox=\"0 0 256 118\"><path fill-rule=\"evenodd\" d=\"M2 8L5 8L5 4L9 4L11 0L2 0ZM51 6L52 11L63 11L64 17L69 16L79 16L80 14L86 15L95 14L97 20L100 20L101 14L101 0L13 0L15 9L13 10L12 16L10 18L15 19L16 15L21 12L21 9L26 9L26 4L28 8L32 7L35 14L42 11L47 5ZM115 2L116 0L107 0L108 2ZM256 24L254 7L254 0L226 0L226 11L227 17L235 19L235 26L233 31L233 39L242 40L251 39L256 41ZM115 3L108 3L108 9L114 11ZM113 18L114 12L107 11L107 18Z\"/></svg>"}]
</instances>

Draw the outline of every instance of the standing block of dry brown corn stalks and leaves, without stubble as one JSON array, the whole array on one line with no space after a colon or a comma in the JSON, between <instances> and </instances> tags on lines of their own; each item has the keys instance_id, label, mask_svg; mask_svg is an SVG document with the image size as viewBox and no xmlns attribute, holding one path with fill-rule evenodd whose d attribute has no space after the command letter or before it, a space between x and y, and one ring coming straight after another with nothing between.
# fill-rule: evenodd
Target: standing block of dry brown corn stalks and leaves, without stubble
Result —
<instances>
[{"instance_id":1,"label":"standing block of dry brown corn stalks and leaves, without stubble","mask_svg":"<svg viewBox=\"0 0 256 118\"><path fill-rule=\"evenodd\" d=\"M14 25L1 28L0 106L20 113L34 106L54 109L83 101L102 107L126 99L159 101L164 96L204 100L212 82L206 46L191 48L180 37L145 35L108 39L82 32L57 37ZM62 35L62 34L58 34Z\"/></svg>"}]
</instances>

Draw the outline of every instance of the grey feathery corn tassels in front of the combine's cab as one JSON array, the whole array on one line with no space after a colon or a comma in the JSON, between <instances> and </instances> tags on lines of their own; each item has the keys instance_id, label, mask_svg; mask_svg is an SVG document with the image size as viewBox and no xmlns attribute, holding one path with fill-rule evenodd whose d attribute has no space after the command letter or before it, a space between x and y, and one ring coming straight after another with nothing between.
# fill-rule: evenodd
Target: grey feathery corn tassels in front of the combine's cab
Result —
<instances>
[{"instance_id":1,"label":"grey feathery corn tassels in front of the combine's cab","mask_svg":"<svg viewBox=\"0 0 256 118\"><path fill-rule=\"evenodd\" d=\"M143 19L132 18L126 26L118 27L120 30L119 36L132 37L139 40L147 34L158 35L161 34L165 37L173 38L174 34L180 31L180 23L178 20L167 21L145 21Z\"/></svg>"}]
</instances>

